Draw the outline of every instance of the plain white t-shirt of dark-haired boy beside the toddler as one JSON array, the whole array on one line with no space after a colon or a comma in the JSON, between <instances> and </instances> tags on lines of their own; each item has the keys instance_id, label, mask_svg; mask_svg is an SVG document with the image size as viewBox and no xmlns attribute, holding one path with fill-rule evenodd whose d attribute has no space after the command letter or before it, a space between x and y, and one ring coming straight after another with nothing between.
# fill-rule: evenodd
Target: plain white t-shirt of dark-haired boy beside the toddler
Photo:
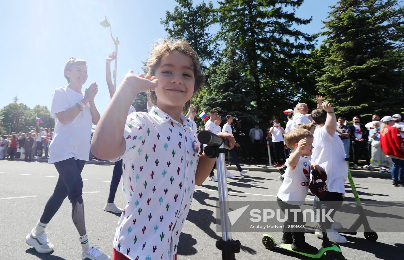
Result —
<instances>
[{"instance_id":1,"label":"plain white t-shirt of dark-haired boy beside the toddler","mask_svg":"<svg viewBox=\"0 0 404 260\"><path fill-rule=\"evenodd\" d=\"M330 192L345 193L345 181L348 177L348 166L345 161L344 144L335 132L328 134L325 126L314 130L313 154L311 161L326 170L327 189Z\"/></svg>"}]
</instances>

